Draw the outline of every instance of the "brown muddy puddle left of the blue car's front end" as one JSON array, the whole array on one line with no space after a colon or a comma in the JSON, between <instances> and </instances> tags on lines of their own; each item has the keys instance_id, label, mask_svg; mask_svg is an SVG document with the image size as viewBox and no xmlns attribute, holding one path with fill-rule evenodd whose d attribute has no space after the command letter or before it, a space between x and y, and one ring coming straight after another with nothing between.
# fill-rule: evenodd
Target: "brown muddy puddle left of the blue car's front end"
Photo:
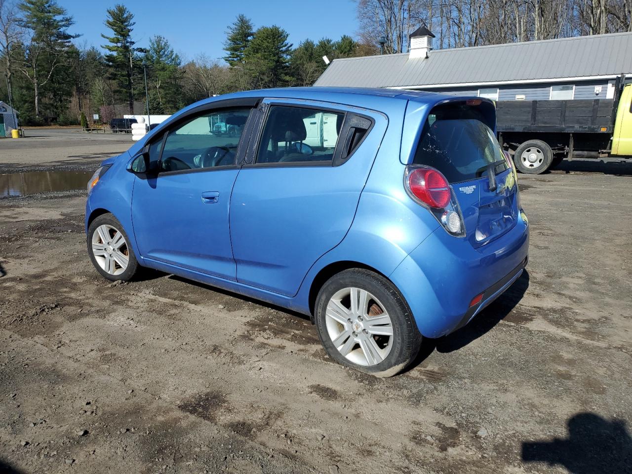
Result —
<instances>
[{"instance_id":1,"label":"brown muddy puddle left of the blue car's front end","mask_svg":"<svg viewBox=\"0 0 632 474\"><path fill-rule=\"evenodd\" d=\"M0 198L85 188L92 171L29 171L0 174Z\"/></svg>"}]
</instances>

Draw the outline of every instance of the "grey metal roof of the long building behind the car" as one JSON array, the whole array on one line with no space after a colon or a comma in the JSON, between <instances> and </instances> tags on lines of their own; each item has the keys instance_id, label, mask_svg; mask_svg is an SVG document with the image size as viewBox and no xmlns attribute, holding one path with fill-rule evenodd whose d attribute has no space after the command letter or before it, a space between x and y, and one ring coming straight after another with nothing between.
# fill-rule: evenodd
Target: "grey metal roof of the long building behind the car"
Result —
<instances>
[{"instance_id":1,"label":"grey metal roof of the long building behind the car","mask_svg":"<svg viewBox=\"0 0 632 474\"><path fill-rule=\"evenodd\" d=\"M632 73L632 33L335 59L315 85L406 87Z\"/></svg>"}]
</instances>

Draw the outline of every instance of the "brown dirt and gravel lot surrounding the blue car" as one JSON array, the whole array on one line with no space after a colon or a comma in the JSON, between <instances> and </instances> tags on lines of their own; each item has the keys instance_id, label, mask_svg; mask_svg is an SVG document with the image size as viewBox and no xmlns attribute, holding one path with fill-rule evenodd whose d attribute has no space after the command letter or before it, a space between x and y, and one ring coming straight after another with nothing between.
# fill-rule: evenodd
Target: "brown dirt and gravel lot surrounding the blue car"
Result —
<instances>
[{"instance_id":1,"label":"brown dirt and gravel lot surrounding the blue car","mask_svg":"<svg viewBox=\"0 0 632 474\"><path fill-rule=\"evenodd\" d=\"M0 173L94 169L128 138L1 140ZM631 176L521 175L528 272L391 379L280 308L105 281L85 191L1 198L0 472L630 473Z\"/></svg>"}]
</instances>

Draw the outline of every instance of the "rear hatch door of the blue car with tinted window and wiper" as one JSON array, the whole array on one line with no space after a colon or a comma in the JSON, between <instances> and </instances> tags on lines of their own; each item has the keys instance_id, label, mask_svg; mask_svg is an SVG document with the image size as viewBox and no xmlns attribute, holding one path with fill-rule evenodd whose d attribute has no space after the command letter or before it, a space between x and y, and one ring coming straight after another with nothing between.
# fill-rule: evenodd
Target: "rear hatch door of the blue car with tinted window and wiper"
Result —
<instances>
[{"instance_id":1,"label":"rear hatch door of the blue car with tinted window and wiper","mask_svg":"<svg viewBox=\"0 0 632 474\"><path fill-rule=\"evenodd\" d=\"M434 107L413 161L446 176L461 209L466 238L475 247L509 231L518 216L516 174L496 140L493 108L480 100Z\"/></svg>"}]
</instances>

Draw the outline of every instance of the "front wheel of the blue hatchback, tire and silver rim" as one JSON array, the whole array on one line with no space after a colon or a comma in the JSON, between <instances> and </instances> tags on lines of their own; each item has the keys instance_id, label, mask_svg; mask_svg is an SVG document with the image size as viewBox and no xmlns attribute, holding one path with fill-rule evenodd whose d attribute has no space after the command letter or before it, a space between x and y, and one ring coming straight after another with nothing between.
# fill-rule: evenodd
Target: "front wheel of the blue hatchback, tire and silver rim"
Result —
<instances>
[{"instance_id":1,"label":"front wheel of the blue hatchback, tire and silver rim","mask_svg":"<svg viewBox=\"0 0 632 474\"><path fill-rule=\"evenodd\" d=\"M138 260L121 222L102 214L88 226L88 254L95 269L111 281L128 281L138 271Z\"/></svg>"}]
</instances>

